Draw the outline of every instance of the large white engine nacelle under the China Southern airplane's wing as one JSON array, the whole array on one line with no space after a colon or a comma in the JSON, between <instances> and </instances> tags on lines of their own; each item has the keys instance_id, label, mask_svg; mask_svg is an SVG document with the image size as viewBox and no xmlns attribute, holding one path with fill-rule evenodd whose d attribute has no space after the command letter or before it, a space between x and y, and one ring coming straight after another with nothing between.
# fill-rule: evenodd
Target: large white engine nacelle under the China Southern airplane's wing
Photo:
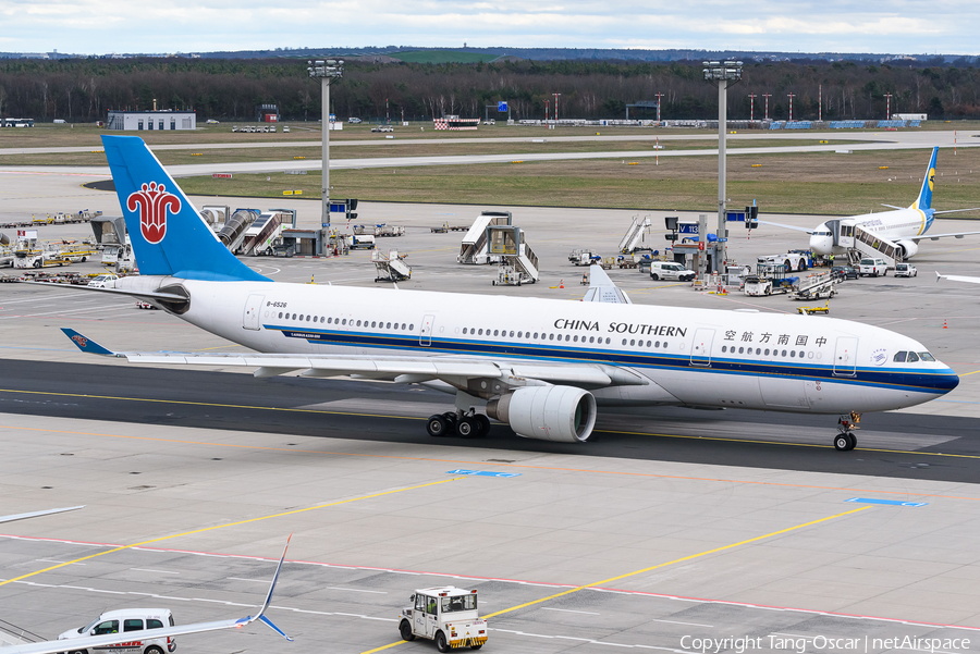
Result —
<instances>
[{"instance_id":1,"label":"large white engine nacelle under the China Southern airplane's wing","mask_svg":"<svg viewBox=\"0 0 980 654\"><path fill-rule=\"evenodd\" d=\"M487 415L525 439L583 443L596 427L596 398L572 386L530 386L491 399Z\"/></svg>"}]
</instances>

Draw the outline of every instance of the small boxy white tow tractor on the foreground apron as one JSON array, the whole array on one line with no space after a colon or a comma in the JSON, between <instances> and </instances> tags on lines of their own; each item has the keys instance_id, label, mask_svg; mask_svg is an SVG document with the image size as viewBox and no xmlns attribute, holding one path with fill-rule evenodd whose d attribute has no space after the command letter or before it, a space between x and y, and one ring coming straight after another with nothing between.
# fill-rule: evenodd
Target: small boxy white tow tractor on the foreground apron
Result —
<instances>
[{"instance_id":1,"label":"small boxy white tow tractor on the foreground apron","mask_svg":"<svg viewBox=\"0 0 980 654\"><path fill-rule=\"evenodd\" d=\"M409 601L399 620L402 640L434 640L440 652L479 650L487 642L487 620L479 616L476 590L426 588L415 591Z\"/></svg>"}]
</instances>

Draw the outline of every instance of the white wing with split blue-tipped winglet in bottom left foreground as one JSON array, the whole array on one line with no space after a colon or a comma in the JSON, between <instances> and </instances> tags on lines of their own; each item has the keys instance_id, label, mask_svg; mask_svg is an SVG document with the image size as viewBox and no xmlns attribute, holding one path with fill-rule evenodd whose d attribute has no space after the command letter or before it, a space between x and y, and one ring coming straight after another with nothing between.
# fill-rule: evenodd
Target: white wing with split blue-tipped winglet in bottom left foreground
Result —
<instances>
[{"instance_id":1,"label":"white wing with split blue-tipped winglet in bottom left foreground","mask_svg":"<svg viewBox=\"0 0 980 654\"><path fill-rule=\"evenodd\" d=\"M290 539L292 539L292 534ZM279 572L282 570L282 562L285 560L286 550L290 548L290 541L286 540L286 546L282 551L282 557L279 559L279 566L275 568L275 575L272 576L272 583L269 585L269 593L266 595L266 601L262 603L259 612L253 616L245 616L244 618L230 618L228 620L216 620L212 622L195 622L193 625L179 625L176 627L164 627L162 629L146 629L143 631L130 631L124 633L107 633L103 636L86 636L82 638L73 638L68 640L49 640L42 641L38 643L24 643L22 645L8 645L4 647L0 647L0 654L57 654L58 652L75 652L75 651L91 651L96 647L108 647L109 645L114 645L120 642L131 642L145 640L148 638L168 638L175 636L185 636L187 633L201 633L205 631L218 631L221 629L241 629L246 625L250 625L256 620L260 620L266 624L270 629L282 636L289 641L292 641L289 636L283 633L283 631L272 624L269 618L266 617L266 609L269 608L270 602L272 602L272 591L275 590L275 582L279 581Z\"/></svg>"}]
</instances>

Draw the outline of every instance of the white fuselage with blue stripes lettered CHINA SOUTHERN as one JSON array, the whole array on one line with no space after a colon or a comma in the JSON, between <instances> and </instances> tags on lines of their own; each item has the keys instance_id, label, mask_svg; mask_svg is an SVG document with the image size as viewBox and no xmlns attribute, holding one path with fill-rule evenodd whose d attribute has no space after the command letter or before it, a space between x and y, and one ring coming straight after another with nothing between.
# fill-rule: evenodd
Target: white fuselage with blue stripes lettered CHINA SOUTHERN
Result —
<instances>
[{"instance_id":1,"label":"white fuselage with blue stripes lettered CHINA SOUTHERN","mask_svg":"<svg viewBox=\"0 0 980 654\"><path fill-rule=\"evenodd\" d=\"M191 297L181 318L260 353L480 359L502 370L604 365L649 382L592 390L603 404L862 412L917 405L958 383L939 361L895 362L899 351L927 353L911 338L823 317L268 282L123 283L180 284Z\"/></svg>"}]
</instances>

